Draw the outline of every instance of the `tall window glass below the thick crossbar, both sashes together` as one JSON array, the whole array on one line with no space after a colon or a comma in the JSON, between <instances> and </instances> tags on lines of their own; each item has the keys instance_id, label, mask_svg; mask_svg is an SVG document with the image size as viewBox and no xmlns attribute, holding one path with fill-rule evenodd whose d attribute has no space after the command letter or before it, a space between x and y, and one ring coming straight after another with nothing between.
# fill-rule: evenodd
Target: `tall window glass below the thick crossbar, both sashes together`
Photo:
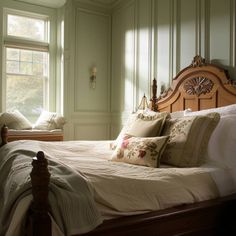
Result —
<instances>
[{"instance_id":1,"label":"tall window glass below the thick crossbar, both sashes together","mask_svg":"<svg viewBox=\"0 0 236 236\"><path fill-rule=\"evenodd\" d=\"M31 122L35 122L44 106L48 53L23 49L16 51L6 49L6 108L18 109Z\"/></svg>"}]
</instances>

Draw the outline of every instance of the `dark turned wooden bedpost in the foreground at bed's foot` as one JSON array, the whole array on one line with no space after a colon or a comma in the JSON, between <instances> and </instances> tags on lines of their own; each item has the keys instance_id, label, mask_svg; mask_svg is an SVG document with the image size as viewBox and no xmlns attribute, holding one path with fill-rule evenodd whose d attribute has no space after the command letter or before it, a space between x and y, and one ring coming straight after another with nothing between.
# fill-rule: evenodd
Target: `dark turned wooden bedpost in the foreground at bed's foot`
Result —
<instances>
[{"instance_id":1,"label":"dark turned wooden bedpost in the foreground at bed's foot","mask_svg":"<svg viewBox=\"0 0 236 236\"><path fill-rule=\"evenodd\" d=\"M51 236L51 219L48 215L48 186L50 173L48 162L43 152L38 152L32 161L30 173L33 201L30 207L30 225L28 235Z\"/></svg>"}]
</instances>

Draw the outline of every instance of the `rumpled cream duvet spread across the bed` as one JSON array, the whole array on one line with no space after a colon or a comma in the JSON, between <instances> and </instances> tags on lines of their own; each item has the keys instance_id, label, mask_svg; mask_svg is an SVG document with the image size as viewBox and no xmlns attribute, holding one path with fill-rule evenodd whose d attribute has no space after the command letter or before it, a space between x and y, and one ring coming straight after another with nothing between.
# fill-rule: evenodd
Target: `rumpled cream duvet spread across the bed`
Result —
<instances>
[{"instance_id":1,"label":"rumpled cream duvet spread across the bed","mask_svg":"<svg viewBox=\"0 0 236 236\"><path fill-rule=\"evenodd\" d=\"M194 203L236 191L226 167L150 168L112 162L109 141L17 141L8 145L42 150L49 160L57 160L81 173L89 183L102 219ZM28 206L22 205L25 209ZM22 208L20 211L23 212ZM19 226L17 216L15 211L16 223L11 225L9 236L14 235L11 229Z\"/></svg>"}]
</instances>

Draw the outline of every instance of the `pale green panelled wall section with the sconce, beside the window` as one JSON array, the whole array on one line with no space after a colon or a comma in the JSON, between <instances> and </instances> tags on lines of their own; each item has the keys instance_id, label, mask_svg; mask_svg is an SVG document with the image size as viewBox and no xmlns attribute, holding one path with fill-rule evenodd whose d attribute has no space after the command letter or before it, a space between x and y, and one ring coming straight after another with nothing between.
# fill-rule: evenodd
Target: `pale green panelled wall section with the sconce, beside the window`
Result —
<instances>
[{"instance_id":1,"label":"pale green panelled wall section with the sconce, beside the window","mask_svg":"<svg viewBox=\"0 0 236 236\"><path fill-rule=\"evenodd\" d=\"M66 140L110 138L110 10L67 1L64 48L64 114ZM90 86L97 68L96 88Z\"/></svg>"}]
</instances>

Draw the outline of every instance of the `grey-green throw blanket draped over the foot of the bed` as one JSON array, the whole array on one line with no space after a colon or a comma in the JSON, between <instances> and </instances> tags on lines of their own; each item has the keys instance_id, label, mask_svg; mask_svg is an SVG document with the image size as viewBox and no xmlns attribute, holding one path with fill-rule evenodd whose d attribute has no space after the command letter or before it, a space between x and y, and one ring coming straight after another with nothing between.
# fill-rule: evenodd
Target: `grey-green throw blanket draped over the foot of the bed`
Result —
<instances>
[{"instance_id":1,"label":"grey-green throw blanket draped over the foot of the bed","mask_svg":"<svg viewBox=\"0 0 236 236\"><path fill-rule=\"evenodd\" d=\"M5 235L18 202L31 194L31 162L39 150L37 142L29 148L21 141L0 148L0 235ZM86 233L101 224L93 190L86 178L56 163L52 157L46 155L46 158L51 173L49 204L60 229L72 235Z\"/></svg>"}]
</instances>

